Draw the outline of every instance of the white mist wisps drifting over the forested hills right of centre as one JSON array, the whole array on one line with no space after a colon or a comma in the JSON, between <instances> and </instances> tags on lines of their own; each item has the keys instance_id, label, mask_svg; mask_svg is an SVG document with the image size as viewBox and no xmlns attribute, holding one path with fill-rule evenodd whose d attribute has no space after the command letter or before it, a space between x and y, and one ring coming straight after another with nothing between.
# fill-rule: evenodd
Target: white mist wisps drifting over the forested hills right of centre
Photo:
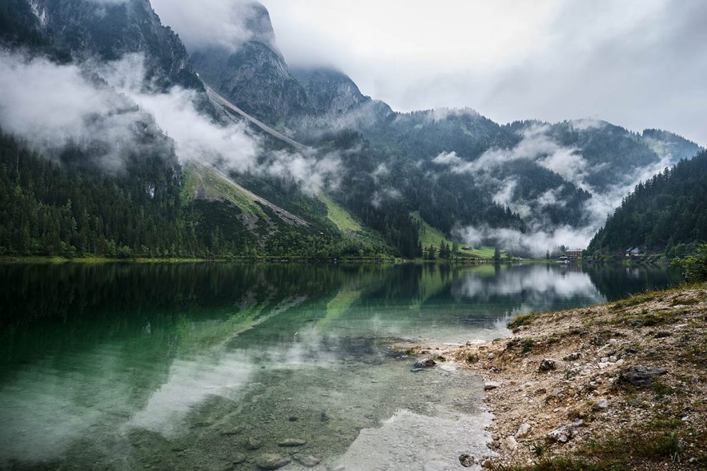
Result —
<instances>
[{"instance_id":1,"label":"white mist wisps drifting over the forested hills right of centre","mask_svg":"<svg viewBox=\"0 0 707 471\"><path fill-rule=\"evenodd\" d=\"M573 129L578 131L597 129L605 125L603 121L594 119L571 123ZM586 179L592 172L601 170L603 164L590 165L579 149L559 145L547 131L547 125L531 126L524 131L518 145L510 149L492 148L477 160L463 160L454 152L440 153L433 158L433 164L446 167L452 173L474 174L475 184L495 191L492 196L494 203L506 206L520 215L530 229L530 233L521 233L515 229L488 226L462 227L456 230L457 237L467 244L498 244L502 249L530 256L542 256L547 250L559 245L584 248L602 227L607 215L621 204L622 198L632 191L636 184L649 179L672 163L669 154L662 155L653 165L641 167L637 173L628 175L621 184L600 191L588 184ZM591 198L585 201L581 209L585 221L583 225L554 225L544 215L543 208L566 205L567 201L562 196L565 189L563 185L547 189L537 197L523 198L516 191L518 181L515 177L498 179L491 176L493 169L514 160L530 160L590 193Z\"/></svg>"}]
</instances>

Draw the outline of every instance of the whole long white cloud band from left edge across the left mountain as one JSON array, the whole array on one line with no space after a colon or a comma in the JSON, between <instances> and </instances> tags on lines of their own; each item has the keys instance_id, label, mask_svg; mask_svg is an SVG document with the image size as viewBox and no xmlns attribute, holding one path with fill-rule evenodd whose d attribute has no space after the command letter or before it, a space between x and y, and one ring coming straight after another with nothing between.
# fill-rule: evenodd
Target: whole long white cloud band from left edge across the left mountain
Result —
<instances>
[{"instance_id":1,"label":"whole long white cloud band from left edge across the left mountain","mask_svg":"<svg viewBox=\"0 0 707 471\"><path fill-rule=\"evenodd\" d=\"M76 143L92 157L98 155L98 165L119 169L130 153L156 150L141 139L147 127L153 135L164 132L172 138L182 162L275 177L310 193L338 184L337 153L271 152L245 122L223 126L197 111L194 90L147 92L151 87L145 83L141 54L76 66L2 53L0 64L0 126L49 155ZM167 139L157 142L165 145L158 152L171 151Z\"/></svg>"}]
</instances>

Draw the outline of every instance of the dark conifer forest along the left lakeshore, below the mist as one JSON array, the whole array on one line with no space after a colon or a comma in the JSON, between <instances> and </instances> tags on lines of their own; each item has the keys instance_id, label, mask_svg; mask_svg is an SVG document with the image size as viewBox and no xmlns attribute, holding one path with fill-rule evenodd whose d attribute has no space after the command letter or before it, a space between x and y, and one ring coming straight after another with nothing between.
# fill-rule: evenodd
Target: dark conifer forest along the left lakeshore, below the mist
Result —
<instances>
[{"instance_id":1,"label":"dark conifer forest along the left lakeshore, below the mist","mask_svg":"<svg viewBox=\"0 0 707 471\"><path fill-rule=\"evenodd\" d=\"M269 223L261 220L249 229L238 206L185 192L188 176L173 154L132 155L117 172L86 162L79 148L69 146L50 160L0 133L1 256L330 258L416 252L416 239L409 248L403 245L400 234L409 232L399 229L395 217L368 213L386 231L388 244L370 232L353 237L341 234L324 205L311 198L288 204L299 210L309 205L309 227L289 226L263 208ZM286 199L276 186L268 196L278 191Z\"/></svg>"}]
</instances>

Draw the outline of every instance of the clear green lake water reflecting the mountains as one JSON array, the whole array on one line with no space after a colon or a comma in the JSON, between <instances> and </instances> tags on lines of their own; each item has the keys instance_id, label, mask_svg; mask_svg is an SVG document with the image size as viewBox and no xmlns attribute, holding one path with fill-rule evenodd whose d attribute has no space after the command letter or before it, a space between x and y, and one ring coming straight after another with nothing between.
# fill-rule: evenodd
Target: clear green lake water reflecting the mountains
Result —
<instances>
[{"instance_id":1,"label":"clear green lake water reflecting the mountains","mask_svg":"<svg viewBox=\"0 0 707 471\"><path fill-rule=\"evenodd\" d=\"M253 470L280 453L286 470L304 455L320 460L306 469L458 469L484 451L481 381L450 365L413 373L386 347L491 340L522 312L679 280L544 265L0 266L0 468Z\"/></svg>"}]
</instances>

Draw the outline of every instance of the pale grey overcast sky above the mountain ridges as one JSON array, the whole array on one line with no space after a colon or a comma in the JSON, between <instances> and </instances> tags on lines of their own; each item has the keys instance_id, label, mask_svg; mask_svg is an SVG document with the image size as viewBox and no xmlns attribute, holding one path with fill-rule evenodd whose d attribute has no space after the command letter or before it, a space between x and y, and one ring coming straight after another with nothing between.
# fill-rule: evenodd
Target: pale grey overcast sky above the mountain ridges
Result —
<instances>
[{"instance_id":1,"label":"pale grey overcast sky above the mountain ridges","mask_svg":"<svg viewBox=\"0 0 707 471\"><path fill-rule=\"evenodd\" d=\"M187 46L242 35L230 25L238 0L194 3L153 0ZM336 66L399 111L472 107L501 123L592 117L707 145L707 1L262 3L289 64Z\"/></svg>"}]
</instances>

